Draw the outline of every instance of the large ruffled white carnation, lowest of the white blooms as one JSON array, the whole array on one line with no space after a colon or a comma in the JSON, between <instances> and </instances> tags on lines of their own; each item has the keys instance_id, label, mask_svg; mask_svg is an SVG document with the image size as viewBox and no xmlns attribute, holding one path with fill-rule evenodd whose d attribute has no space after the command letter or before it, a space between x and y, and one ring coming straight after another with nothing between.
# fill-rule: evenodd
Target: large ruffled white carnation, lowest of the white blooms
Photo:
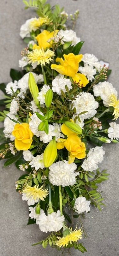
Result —
<instances>
[{"instance_id":1,"label":"large ruffled white carnation, lowest of the white blooms","mask_svg":"<svg viewBox=\"0 0 119 256\"><path fill-rule=\"evenodd\" d=\"M56 213L48 214L48 216L46 216L45 213L41 213L37 218L36 224L39 224L39 228L42 232L57 232L63 227L64 221L64 215L61 216L61 213L58 210Z\"/></svg>"}]
</instances>

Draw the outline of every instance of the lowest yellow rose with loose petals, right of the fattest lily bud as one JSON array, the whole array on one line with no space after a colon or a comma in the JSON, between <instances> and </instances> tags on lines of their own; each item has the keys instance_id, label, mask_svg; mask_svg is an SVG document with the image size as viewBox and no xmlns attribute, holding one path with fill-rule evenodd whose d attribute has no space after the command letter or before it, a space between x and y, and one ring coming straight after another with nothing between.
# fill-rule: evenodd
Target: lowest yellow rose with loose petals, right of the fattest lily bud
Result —
<instances>
[{"instance_id":1,"label":"lowest yellow rose with loose petals, right of the fattest lily bud","mask_svg":"<svg viewBox=\"0 0 119 256\"><path fill-rule=\"evenodd\" d=\"M66 148L69 151L69 162L72 163L75 160L75 157L78 159L82 159L86 156L85 154L85 143L81 142L81 139L77 136L77 134L73 133L69 128L63 124L61 126L61 131L65 135L67 135L67 139L58 139L57 141L57 149Z\"/></svg>"}]
</instances>

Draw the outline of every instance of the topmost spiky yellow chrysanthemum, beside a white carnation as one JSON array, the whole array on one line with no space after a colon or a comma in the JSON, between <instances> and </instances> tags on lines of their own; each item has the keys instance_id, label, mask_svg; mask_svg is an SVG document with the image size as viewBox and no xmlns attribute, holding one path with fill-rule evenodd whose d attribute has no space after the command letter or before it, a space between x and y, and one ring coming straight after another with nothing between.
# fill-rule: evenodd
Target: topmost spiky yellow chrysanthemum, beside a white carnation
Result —
<instances>
[{"instance_id":1,"label":"topmost spiky yellow chrysanthemum, beside a white carnation","mask_svg":"<svg viewBox=\"0 0 119 256\"><path fill-rule=\"evenodd\" d=\"M32 30L37 30L39 29L39 27L43 26L43 25L48 25L50 23L50 19L47 17L39 17L38 19L35 18L34 20L32 20L30 22L29 28Z\"/></svg>"}]
</instances>

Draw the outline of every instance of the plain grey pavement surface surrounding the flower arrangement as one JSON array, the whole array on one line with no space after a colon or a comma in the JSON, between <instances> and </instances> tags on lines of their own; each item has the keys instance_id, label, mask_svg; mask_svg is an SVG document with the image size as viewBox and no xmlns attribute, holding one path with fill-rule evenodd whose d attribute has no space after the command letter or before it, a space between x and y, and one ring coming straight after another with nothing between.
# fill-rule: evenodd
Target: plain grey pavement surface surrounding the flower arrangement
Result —
<instances>
[{"instance_id":1,"label":"plain grey pavement surface surrounding the flower arrangement","mask_svg":"<svg viewBox=\"0 0 119 256\"><path fill-rule=\"evenodd\" d=\"M119 93L119 2L118 0L49 0L51 5L59 3L68 13L80 10L75 31L85 41L81 53L95 54L99 60L110 63L112 69L109 82ZM33 10L24 10L22 0L0 1L0 82L9 82L10 68L18 69L20 51L25 46L19 37L20 26L34 17ZM2 95L2 94L1 94ZM105 160L101 169L108 169L109 180L99 185L103 191L106 207L99 212L91 207L83 220L88 238L84 239L87 256L119 256L119 161L118 144L104 145ZM16 193L15 181L23 174L14 165L1 172L1 250L0 256L54 256L61 255L55 249L43 249L38 245L46 237L38 225L28 225L28 205ZM77 221L77 220L76 220ZM78 224L78 221L77 221ZM78 225L79 226L79 225ZM71 249L71 255L81 255ZM67 254L64 253L64 256Z\"/></svg>"}]
</instances>

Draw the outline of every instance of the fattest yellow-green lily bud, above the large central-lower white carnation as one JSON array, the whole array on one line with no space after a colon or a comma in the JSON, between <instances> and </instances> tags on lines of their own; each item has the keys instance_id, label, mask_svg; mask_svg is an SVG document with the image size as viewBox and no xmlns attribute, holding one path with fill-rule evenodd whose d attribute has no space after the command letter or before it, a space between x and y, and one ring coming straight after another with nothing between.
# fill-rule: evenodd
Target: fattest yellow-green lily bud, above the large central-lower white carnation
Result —
<instances>
[{"instance_id":1,"label":"fattest yellow-green lily bud, above the large central-lower white carnation","mask_svg":"<svg viewBox=\"0 0 119 256\"><path fill-rule=\"evenodd\" d=\"M49 142L47 147L44 150L44 167L49 167L56 159L57 156L57 147L55 137Z\"/></svg>"}]
</instances>

